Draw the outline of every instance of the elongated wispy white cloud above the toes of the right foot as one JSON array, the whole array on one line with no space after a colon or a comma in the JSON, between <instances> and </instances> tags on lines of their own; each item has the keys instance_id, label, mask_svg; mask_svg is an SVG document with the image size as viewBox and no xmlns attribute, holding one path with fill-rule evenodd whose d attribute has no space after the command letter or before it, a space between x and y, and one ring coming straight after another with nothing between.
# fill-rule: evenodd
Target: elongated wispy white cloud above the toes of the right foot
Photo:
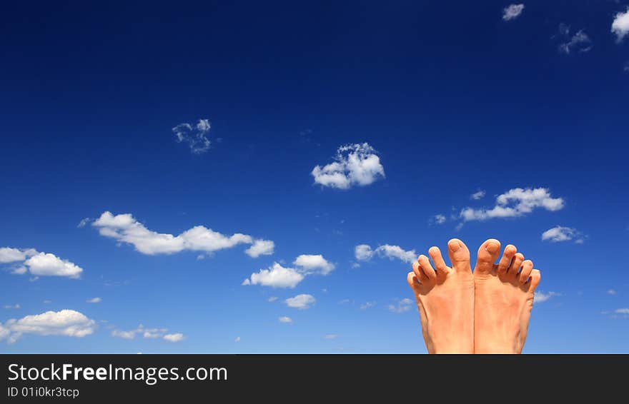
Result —
<instances>
[{"instance_id":1,"label":"elongated wispy white cloud above the toes of the right foot","mask_svg":"<svg viewBox=\"0 0 629 404\"><path fill-rule=\"evenodd\" d=\"M461 211L460 217L463 221L514 218L531 213L535 208L559 211L563 206L563 198L552 198L548 188L513 188L497 196L496 205L493 208L465 208Z\"/></svg>"}]
</instances>

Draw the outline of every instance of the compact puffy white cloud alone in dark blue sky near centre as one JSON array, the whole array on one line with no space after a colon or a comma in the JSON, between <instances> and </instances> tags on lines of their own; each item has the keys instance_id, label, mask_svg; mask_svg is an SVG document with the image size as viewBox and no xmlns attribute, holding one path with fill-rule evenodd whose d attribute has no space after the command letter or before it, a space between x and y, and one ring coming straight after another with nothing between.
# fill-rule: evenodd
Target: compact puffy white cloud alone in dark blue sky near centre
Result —
<instances>
[{"instance_id":1,"label":"compact puffy white cloud alone in dark blue sky near centre","mask_svg":"<svg viewBox=\"0 0 629 404\"><path fill-rule=\"evenodd\" d=\"M340 146L335 161L312 169L314 183L331 188L349 189L367 186L378 178L385 178L380 157L369 143Z\"/></svg>"}]
</instances>

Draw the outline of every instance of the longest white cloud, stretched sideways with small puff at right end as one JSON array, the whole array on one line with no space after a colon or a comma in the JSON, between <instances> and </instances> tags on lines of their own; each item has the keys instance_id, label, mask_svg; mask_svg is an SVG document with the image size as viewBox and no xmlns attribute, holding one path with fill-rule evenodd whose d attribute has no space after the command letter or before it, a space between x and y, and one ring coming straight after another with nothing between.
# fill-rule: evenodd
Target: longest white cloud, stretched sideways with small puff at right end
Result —
<instances>
[{"instance_id":1,"label":"longest white cloud, stretched sideways with small puff at right end","mask_svg":"<svg viewBox=\"0 0 629 404\"><path fill-rule=\"evenodd\" d=\"M181 251L213 253L239 244L252 244L247 254L256 257L272 253L272 246L274 246L272 241L256 240L242 233L225 236L204 226L195 226L179 236L157 233L146 228L130 213L113 215L106 211L94 223L91 223L91 226L98 228L101 236L131 244L139 253L147 255L172 254ZM269 246L271 246L270 251Z\"/></svg>"}]
</instances>

